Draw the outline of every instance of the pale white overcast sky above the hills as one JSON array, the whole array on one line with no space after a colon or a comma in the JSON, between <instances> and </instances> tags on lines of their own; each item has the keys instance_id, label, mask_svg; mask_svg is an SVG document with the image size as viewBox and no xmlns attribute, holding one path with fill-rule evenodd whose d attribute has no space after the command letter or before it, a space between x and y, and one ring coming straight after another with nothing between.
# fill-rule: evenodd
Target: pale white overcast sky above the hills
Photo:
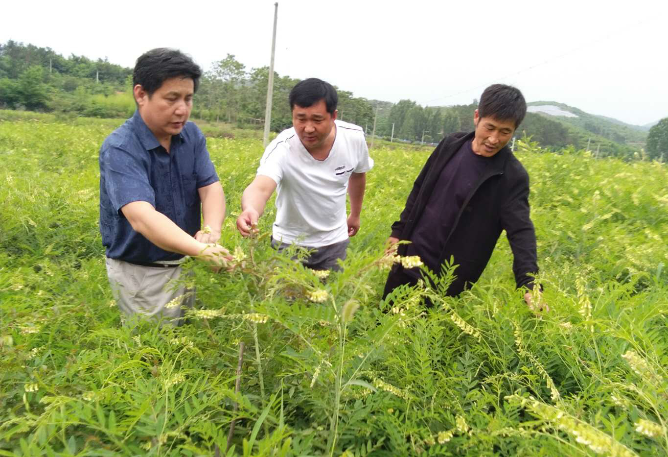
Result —
<instances>
[{"instance_id":1,"label":"pale white overcast sky above the hills","mask_svg":"<svg viewBox=\"0 0 668 457\"><path fill-rule=\"evenodd\" d=\"M468 104L517 86L629 124L668 116L668 2L279 1L275 70L355 96ZM274 1L12 1L0 42L107 57L128 67L178 47L209 69L227 53L269 65Z\"/></svg>"}]
</instances>

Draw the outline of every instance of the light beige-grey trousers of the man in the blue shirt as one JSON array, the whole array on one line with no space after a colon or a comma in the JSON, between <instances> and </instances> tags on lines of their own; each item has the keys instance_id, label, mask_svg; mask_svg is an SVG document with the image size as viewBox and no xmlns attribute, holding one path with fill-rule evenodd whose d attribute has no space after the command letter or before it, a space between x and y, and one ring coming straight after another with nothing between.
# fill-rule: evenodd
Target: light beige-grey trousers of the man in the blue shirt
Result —
<instances>
[{"instance_id":1,"label":"light beige-grey trousers of the man in the blue shirt","mask_svg":"<svg viewBox=\"0 0 668 457\"><path fill-rule=\"evenodd\" d=\"M183 307L192 307L193 290L176 281L182 268L143 267L106 257L107 276L118 308L126 315L181 325ZM127 319L126 319L127 320Z\"/></svg>"}]
</instances>

